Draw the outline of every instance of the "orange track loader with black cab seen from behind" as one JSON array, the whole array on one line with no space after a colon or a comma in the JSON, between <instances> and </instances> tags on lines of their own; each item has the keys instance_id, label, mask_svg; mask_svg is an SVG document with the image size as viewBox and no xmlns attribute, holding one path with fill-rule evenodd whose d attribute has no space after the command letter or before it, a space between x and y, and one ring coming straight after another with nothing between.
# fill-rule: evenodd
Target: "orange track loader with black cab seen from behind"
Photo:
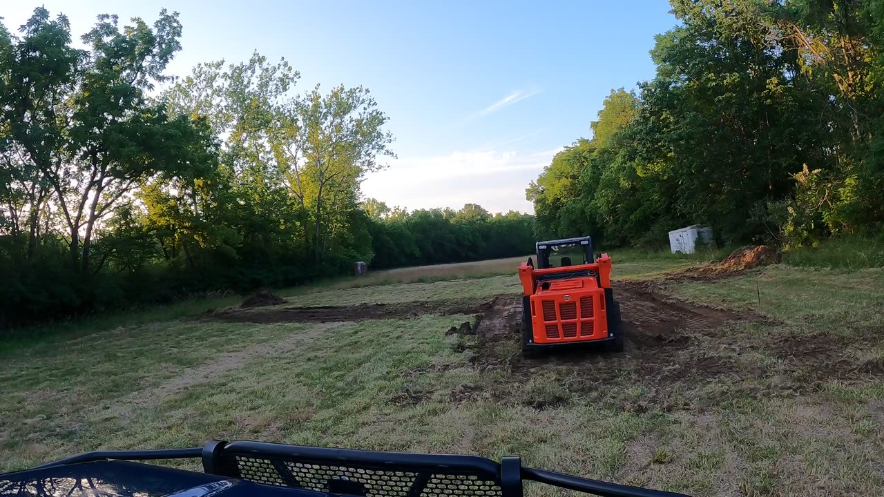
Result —
<instances>
[{"instance_id":1,"label":"orange track loader with black cab seen from behind","mask_svg":"<svg viewBox=\"0 0 884 497\"><path fill-rule=\"evenodd\" d=\"M620 304L611 290L611 257L595 259L590 237L537 242L537 268L529 257L522 281L522 353L603 343L623 350Z\"/></svg>"}]
</instances>

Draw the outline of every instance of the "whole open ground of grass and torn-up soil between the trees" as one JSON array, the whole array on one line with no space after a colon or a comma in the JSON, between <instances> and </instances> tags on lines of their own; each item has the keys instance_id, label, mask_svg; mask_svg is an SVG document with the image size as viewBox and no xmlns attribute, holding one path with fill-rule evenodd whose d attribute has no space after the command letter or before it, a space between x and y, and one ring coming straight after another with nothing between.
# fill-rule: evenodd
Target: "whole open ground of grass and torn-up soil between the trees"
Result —
<instances>
[{"instance_id":1,"label":"whole open ground of grass and torn-up soil between the trees","mask_svg":"<svg viewBox=\"0 0 884 497\"><path fill-rule=\"evenodd\" d=\"M522 455L697 495L884 493L884 270L690 279L667 271L702 259L614 259L631 333L620 355L524 360L512 334L446 335L471 305L521 291L517 259L301 288L241 311L252 322L204 312L225 297L21 342L0 351L0 471L223 438ZM376 303L400 315L286 317Z\"/></svg>"}]
</instances>

